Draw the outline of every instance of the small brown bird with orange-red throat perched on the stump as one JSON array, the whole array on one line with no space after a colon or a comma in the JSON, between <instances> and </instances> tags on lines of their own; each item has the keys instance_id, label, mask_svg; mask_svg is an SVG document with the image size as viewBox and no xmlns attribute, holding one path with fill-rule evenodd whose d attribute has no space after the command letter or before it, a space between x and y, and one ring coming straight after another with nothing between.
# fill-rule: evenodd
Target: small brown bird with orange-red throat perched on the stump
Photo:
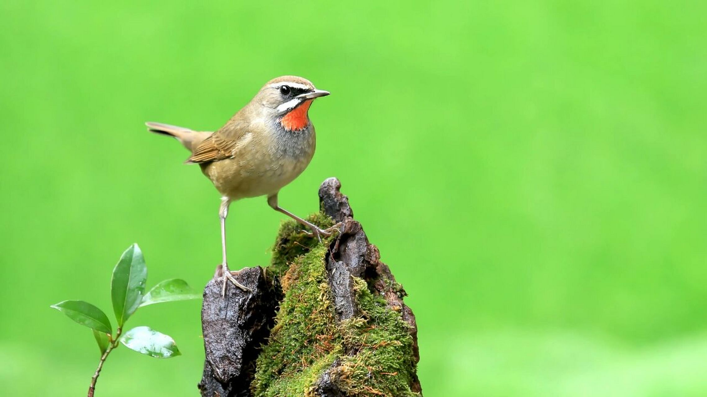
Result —
<instances>
[{"instance_id":1,"label":"small brown bird with orange-red throat perched on the stump","mask_svg":"<svg viewBox=\"0 0 707 397\"><path fill-rule=\"evenodd\" d=\"M312 234L329 236L334 227L317 225L281 208L277 194L305 170L315 150L315 131L308 116L312 101L329 95L317 90L306 78L281 76L268 81L243 109L216 132L192 131L168 124L148 122L149 131L177 138L192 152L187 164L199 164L201 172L221 193L221 249L223 288L226 279L243 290L228 270L226 261L226 215L232 201L267 196L274 210L310 227Z\"/></svg>"}]
</instances>

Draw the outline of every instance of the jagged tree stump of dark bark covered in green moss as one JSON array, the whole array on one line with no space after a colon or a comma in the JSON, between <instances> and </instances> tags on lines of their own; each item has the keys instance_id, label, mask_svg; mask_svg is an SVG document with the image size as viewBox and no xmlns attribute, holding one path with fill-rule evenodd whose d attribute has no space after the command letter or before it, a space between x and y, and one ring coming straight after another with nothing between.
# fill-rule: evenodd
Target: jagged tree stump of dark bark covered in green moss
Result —
<instances>
[{"instance_id":1,"label":"jagged tree stump of dark bark covered in green moss","mask_svg":"<svg viewBox=\"0 0 707 397\"><path fill-rule=\"evenodd\" d=\"M253 292L206 285L201 396L422 396L406 293L340 187L322 183L308 220L341 232L320 242L286 222L271 265L237 276Z\"/></svg>"}]
</instances>

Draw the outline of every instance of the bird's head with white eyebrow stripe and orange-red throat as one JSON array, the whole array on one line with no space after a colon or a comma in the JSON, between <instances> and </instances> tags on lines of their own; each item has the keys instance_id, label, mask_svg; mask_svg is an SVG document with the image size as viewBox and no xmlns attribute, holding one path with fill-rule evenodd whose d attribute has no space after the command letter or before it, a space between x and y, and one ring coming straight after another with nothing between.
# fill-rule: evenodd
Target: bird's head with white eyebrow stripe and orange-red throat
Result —
<instances>
[{"instance_id":1,"label":"bird's head with white eyebrow stripe and orange-red throat","mask_svg":"<svg viewBox=\"0 0 707 397\"><path fill-rule=\"evenodd\" d=\"M257 104L276 119L287 131L303 129L309 124L307 112L317 97L329 95L329 91L317 90L306 78L280 76L268 81L255 96Z\"/></svg>"}]
</instances>

